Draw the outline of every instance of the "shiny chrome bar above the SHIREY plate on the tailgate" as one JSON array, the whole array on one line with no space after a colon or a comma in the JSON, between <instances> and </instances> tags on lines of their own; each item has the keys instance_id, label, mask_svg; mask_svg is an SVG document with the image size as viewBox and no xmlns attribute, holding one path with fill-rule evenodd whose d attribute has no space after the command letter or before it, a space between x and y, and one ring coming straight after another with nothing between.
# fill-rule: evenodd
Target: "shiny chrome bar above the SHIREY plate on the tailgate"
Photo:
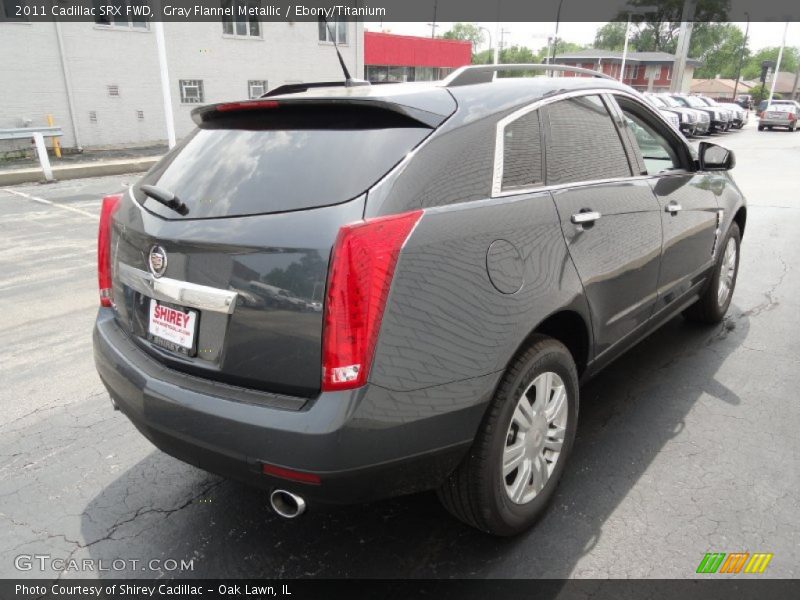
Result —
<instances>
[{"instance_id":1,"label":"shiny chrome bar above the SHIREY plate on the tailgate","mask_svg":"<svg viewBox=\"0 0 800 600\"><path fill-rule=\"evenodd\" d=\"M117 276L131 289L162 302L174 302L188 308L228 315L233 314L236 307L238 293L229 290L168 277L156 279L146 271L122 263L117 266Z\"/></svg>"}]
</instances>

